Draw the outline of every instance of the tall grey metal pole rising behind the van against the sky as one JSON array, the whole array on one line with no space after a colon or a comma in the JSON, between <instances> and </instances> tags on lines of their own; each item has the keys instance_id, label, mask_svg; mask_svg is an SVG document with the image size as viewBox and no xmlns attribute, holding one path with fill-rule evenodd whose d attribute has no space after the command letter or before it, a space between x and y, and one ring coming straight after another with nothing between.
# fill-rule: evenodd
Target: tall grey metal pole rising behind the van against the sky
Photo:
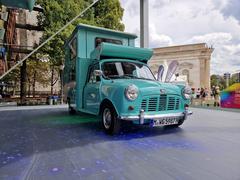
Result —
<instances>
[{"instance_id":1,"label":"tall grey metal pole rising behind the van against the sky","mask_svg":"<svg viewBox=\"0 0 240 180\"><path fill-rule=\"evenodd\" d=\"M149 3L148 0L140 0L140 46L149 47Z\"/></svg>"}]
</instances>

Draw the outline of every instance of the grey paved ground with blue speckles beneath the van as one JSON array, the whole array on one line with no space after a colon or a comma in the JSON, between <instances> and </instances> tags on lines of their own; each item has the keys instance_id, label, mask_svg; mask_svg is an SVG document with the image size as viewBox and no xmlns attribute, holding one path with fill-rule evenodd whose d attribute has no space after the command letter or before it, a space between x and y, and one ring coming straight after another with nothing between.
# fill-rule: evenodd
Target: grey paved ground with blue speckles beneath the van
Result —
<instances>
[{"instance_id":1,"label":"grey paved ground with blue speckles beneath the van","mask_svg":"<svg viewBox=\"0 0 240 180\"><path fill-rule=\"evenodd\" d=\"M240 179L240 114L191 109L181 128L124 125L66 107L0 111L0 179Z\"/></svg>"}]
</instances>

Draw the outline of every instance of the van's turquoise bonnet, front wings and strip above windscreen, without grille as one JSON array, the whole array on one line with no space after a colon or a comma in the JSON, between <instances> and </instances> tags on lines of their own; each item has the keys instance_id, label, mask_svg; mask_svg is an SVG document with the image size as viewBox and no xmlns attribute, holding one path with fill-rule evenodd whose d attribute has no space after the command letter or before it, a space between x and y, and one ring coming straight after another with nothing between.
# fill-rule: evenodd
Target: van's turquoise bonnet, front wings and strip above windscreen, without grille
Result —
<instances>
[{"instance_id":1,"label":"van's turquoise bonnet, front wings and strip above windscreen, without grille","mask_svg":"<svg viewBox=\"0 0 240 180\"><path fill-rule=\"evenodd\" d=\"M108 59L102 60L100 64L104 62L111 61L132 61L126 59ZM134 62L134 61L132 61ZM139 62L141 63L141 62ZM142 63L144 64L144 63ZM129 85L134 84L139 89L139 96L136 100L130 101L125 97L125 89ZM114 105L119 116L125 115L139 115L139 111L141 108L141 102L143 99L148 97L159 97L160 89L164 89L165 94L168 96L176 97L180 99L180 108L177 110L167 110L167 111L151 111L146 112L146 114L159 114L159 113L175 113L175 112L183 112L184 105L188 104L189 101L185 100L182 96L182 88L177 85L173 85L170 83L161 83L158 81L144 80L144 79L115 79L115 80L107 80L102 78L101 87L100 87L100 97L101 101L103 99L108 99ZM157 103L159 104L159 103ZM129 110L129 106L134 107L134 110ZM168 104L166 105L168 106ZM158 109L158 107L156 107Z\"/></svg>"}]
</instances>

